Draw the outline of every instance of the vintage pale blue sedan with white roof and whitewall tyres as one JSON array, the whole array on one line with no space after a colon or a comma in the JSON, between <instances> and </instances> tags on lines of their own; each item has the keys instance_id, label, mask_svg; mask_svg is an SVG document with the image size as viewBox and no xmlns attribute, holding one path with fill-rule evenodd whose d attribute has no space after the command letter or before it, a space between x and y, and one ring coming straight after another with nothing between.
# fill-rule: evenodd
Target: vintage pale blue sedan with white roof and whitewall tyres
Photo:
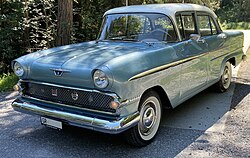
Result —
<instances>
[{"instance_id":1,"label":"vintage pale blue sedan with white roof and whitewall tyres","mask_svg":"<svg viewBox=\"0 0 250 158\"><path fill-rule=\"evenodd\" d=\"M214 85L226 91L244 57L242 32L223 32L195 4L108 10L96 41L38 51L13 61L17 111L54 128L74 125L152 142L162 109Z\"/></svg>"}]
</instances>

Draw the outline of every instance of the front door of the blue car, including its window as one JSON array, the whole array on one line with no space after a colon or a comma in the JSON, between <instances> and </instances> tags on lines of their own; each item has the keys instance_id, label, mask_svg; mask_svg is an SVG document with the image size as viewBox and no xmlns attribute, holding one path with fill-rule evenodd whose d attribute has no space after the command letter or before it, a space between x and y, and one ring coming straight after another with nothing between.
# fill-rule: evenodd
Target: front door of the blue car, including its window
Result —
<instances>
[{"instance_id":1,"label":"front door of the blue car, including its window","mask_svg":"<svg viewBox=\"0 0 250 158\"><path fill-rule=\"evenodd\" d=\"M208 44L199 37L195 13L176 15L177 27L182 41L178 54L182 56L180 102L198 93L207 82Z\"/></svg>"}]
</instances>

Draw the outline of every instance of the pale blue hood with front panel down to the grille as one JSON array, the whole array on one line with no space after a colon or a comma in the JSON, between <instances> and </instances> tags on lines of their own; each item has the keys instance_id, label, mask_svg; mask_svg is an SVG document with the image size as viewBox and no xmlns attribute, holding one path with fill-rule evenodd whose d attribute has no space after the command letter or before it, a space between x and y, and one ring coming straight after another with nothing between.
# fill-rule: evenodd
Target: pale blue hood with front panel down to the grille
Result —
<instances>
[{"instance_id":1,"label":"pale blue hood with front panel down to the grille","mask_svg":"<svg viewBox=\"0 0 250 158\"><path fill-rule=\"evenodd\" d=\"M119 56L148 51L145 43L86 42L48 49L26 56L30 60L27 79L93 88L93 70ZM29 58L29 59L28 59ZM63 70L55 75L54 70Z\"/></svg>"}]
</instances>

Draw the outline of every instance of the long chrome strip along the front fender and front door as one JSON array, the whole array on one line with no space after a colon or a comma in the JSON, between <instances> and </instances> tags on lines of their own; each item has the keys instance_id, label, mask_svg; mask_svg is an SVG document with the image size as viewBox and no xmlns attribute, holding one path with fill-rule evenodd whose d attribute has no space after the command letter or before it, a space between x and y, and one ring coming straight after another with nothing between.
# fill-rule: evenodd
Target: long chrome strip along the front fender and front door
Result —
<instances>
[{"instance_id":1,"label":"long chrome strip along the front fender and front door","mask_svg":"<svg viewBox=\"0 0 250 158\"><path fill-rule=\"evenodd\" d=\"M189 58L186 58L186 59L183 59L183 60L175 61L175 62L173 62L173 63L169 63L169 64L166 64L166 65L162 65L162 66L159 66L159 67L155 67L155 68L153 68L153 69L144 71L144 72L142 72L142 73L139 73L139 74L137 74L137 75L131 77L128 81L131 81L131 80L134 80L134 79L137 79L137 78L141 78L141 77L144 77L144 76L153 74L153 73L155 73L155 72L158 72L158 71L167 69L167 68L169 68L169 67L173 67L173 66L176 66L176 65L179 65L179 64L182 64L182 63L191 61L191 60L193 60L193 59L196 59L196 58L205 56L205 55L207 55L207 54L208 54L208 53L204 53L204 54L196 55L196 56L189 57Z\"/></svg>"}]
</instances>

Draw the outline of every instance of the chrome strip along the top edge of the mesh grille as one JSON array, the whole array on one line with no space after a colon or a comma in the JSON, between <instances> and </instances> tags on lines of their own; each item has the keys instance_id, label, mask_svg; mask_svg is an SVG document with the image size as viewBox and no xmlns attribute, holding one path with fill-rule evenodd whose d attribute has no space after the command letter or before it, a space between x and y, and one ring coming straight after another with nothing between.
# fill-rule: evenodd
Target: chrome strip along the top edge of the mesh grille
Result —
<instances>
[{"instance_id":1,"label":"chrome strip along the top edge of the mesh grille","mask_svg":"<svg viewBox=\"0 0 250 158\"><path fill-rule=\"evenodd\" d=\"M59 87L59 88L67 88L67 89L73 89L73 90L79 90L79 91L86 91L86 92L96 92L104 95L109 95L115 99L119 99L117 94L114 93L105 93L101 92L98 90L89 90L89 89L83 89L83 88L76 88L76 87L69 87L69 86L62 86L58 84L53 84L53 83L46 83L46 82L37 82L37 81L32 81L32 80L20 80L19 82L28 82L28 83L35 83L35 84L41 84L41 85L47 85L47 86L53 86L53 87Z\"/></svg>"}]
</instances>

